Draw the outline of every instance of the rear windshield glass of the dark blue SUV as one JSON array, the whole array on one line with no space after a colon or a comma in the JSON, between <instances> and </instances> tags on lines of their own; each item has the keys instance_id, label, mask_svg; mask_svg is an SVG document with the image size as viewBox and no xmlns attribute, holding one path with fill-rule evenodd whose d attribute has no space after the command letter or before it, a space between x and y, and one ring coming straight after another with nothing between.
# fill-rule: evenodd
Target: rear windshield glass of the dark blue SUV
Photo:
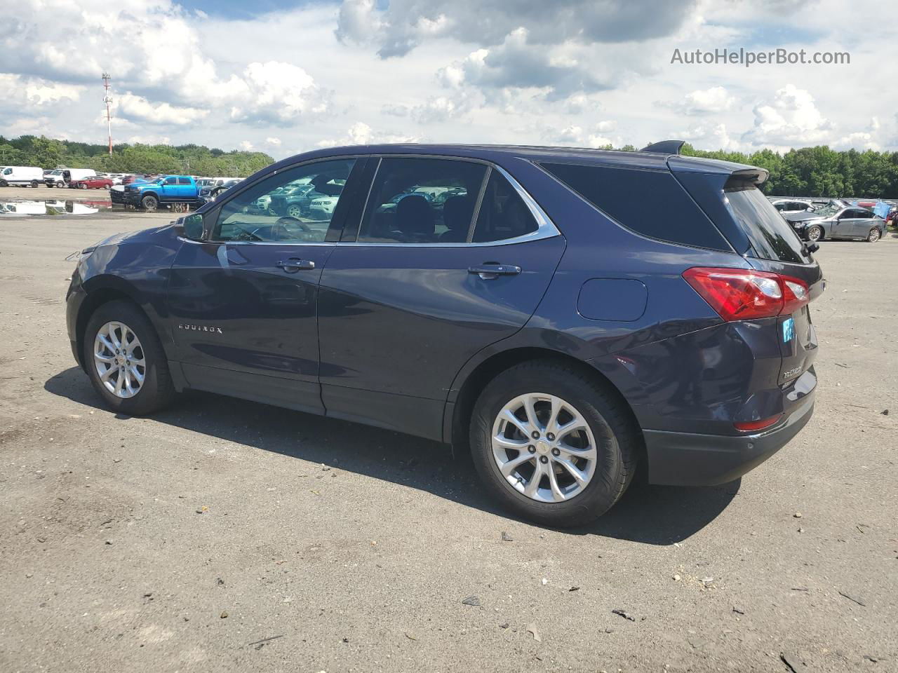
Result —
<instances>
[{"instance_id":1,"label":"rear windshield glass of the dark blue SUV","mask_svg":"<svg viewBox=\"0 0 898 673\"><path fill-rule=\"evenodd\" d=\"M806 264L810 258L803 251L798 234L753 182L729 182L724 188L726 208L762 259Z\"/></svg>"}]
</instances>

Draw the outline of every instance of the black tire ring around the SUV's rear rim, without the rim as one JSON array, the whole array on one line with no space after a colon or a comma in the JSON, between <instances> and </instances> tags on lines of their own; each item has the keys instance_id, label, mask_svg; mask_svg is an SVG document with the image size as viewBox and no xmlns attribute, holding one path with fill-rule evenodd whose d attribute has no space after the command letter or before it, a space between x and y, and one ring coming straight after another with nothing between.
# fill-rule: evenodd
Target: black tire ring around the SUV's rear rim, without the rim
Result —
<instances>
[{"instance_id":1,"label":"black tire ring around the SUV's rear rim, without the rim","mask_svg":"<svg viewBox=\"0 0 898 673\"><path fill-rule=\"evenodd\" d=\"M601 516L618 501L635 467L633 429L612 398L568 367L547 363L524 364L499 374L483 390L471 415L471 455L480 478L508 509L540 523L564 528ZM502 476L492 455L493 423L509 400L525 393L558 396L576 406L593 431L595 472L583 493L564 503L539 503L515 490Z\"/></svg>"}]
</instances>

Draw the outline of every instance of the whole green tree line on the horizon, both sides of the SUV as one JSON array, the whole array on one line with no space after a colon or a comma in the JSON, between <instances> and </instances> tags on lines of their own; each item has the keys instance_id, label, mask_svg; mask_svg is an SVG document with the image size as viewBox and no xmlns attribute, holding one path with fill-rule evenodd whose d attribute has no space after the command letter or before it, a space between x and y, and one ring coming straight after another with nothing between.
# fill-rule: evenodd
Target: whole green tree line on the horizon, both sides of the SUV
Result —
<instances>
[{"instance_id":1,"label":"whole green tree line on the horizon, both sides of the SUV","mask_svg":"<svg viewBox=\"0 0 898 673\"><path fill-rule=\"evenodd\" d=\"M612 149L611 146L603 149ZM636 147L625 145L622 150ZM707 152L686 144L682 153L760 166L770 172L765 194L789 197L898 197L898 152L836 151L826 145L778 153ZM261 152L225 152L198 144L103 144L43 135L0 135L0 166L92 168L112 173L185 173L245 177L274 159Z\"/></svg>"}]
</instances>

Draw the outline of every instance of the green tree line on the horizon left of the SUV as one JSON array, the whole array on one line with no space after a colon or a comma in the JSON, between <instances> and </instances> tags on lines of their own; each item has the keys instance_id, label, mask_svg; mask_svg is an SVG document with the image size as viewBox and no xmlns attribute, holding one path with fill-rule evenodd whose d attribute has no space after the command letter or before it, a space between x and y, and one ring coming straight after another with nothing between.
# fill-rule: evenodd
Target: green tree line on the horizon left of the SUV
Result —
<instances>
[{"instance_id":1,"label":"green tree line on the horizon left of the SUV","mask_svg":"<svg viewBox=\"0 0 898 673\"><path fill-rule=\"evenodd\" d=\"M198 144L105 144L43 135L0 135L0 166L90 168L110 173L174 173L244 178L275 160L261 152L225 152Z\"/></svg>"}]
</instances>

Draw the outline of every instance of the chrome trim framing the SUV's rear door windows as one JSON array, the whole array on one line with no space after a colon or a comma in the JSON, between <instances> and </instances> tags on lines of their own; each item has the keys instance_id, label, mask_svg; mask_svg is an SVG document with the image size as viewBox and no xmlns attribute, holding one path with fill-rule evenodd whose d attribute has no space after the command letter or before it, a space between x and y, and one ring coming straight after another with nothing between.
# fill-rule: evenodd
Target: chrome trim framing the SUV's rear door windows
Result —
<instances>
[{"instance_id":1,"label":"chrome trim framing the SUV's rear door windows","mask_svg":"<svg viewBox=\"0 0 898 673\"><path fill-rule=\"evenodd\" d=\"M463 157L463 156L451 156L447 154L371 154L371 158L376 157L378 160L382 159L442 159L450 162L471 162L471 163L482 163L488 169L497 170L499 174L508 180L509 184L511 184L512 188L515 189L517 195L521 197L524 201L524 205L527 206L527 209L530 210L530 213L533 215L533 219L536 220L536 231L526 233L523 236L515 236L513 239L502 239L502 240L486 240L482 242L473 242L473 241L446 241L445 243L433 242L433 243L401 243L399 241L390 242L385 241L375 242L375 241L359 241L359 240L340 240L338 245L343 246L351 246L354 248L362 247L362 246L370 246L376 248L495 248L498 245L514 245L515 243L526 243L531 240L542 240L542 239L550 239L555 236L560 236L561 232L559 232L558 227L555 226L555 223L551 221L551 218L538 203L536 200L530 196L526 189L518 182L512 175L495 163L488 162L484 159L480 159L477 157ZM378 164L377 169L380 170L380 164ZM487 171L489 174L489 170ZM374 174L374 178L371 180L371 185L368 188L368 197L365 198L365 207L362 209L362 216L365 216L365 212L368 209L368 198L371 197L371 188L374 187L374 179L376 179L376 173ZM485 186L484 186L485 187ZM483 188L480 189L480 195L478 195L478 204L480 204L480 198L482 197ZM472 220L471 227L476 224L476 221ZM358 234L356 234L356 238L358 239Z\"/></svg>"}]
</instances>

